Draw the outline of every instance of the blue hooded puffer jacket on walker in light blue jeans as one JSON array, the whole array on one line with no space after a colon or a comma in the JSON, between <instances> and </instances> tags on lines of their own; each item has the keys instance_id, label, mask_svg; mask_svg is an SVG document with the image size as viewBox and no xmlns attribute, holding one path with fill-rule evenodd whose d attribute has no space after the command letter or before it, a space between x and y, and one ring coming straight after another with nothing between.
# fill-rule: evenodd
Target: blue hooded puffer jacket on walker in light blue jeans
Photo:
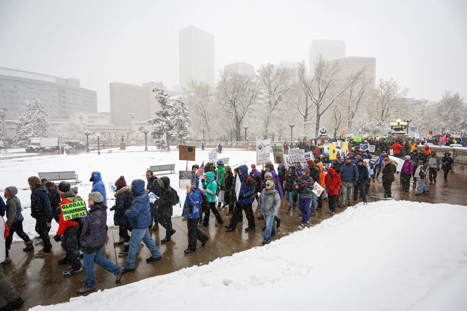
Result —
<instances>
[{"instance_id":1,"label":"blue hooded puffer jacket on walker in light blue jeans","mask_svg":"<svg viewBox=\"0 0 467 311\"><path fill-rule=\"evenodd\" d=\"M144 229L152 224L149 195L144 191L143 179L133 180L131 187L135 198L131 207L125 211L125 215L132 228Z\"/></svg>"}]
</instances>

